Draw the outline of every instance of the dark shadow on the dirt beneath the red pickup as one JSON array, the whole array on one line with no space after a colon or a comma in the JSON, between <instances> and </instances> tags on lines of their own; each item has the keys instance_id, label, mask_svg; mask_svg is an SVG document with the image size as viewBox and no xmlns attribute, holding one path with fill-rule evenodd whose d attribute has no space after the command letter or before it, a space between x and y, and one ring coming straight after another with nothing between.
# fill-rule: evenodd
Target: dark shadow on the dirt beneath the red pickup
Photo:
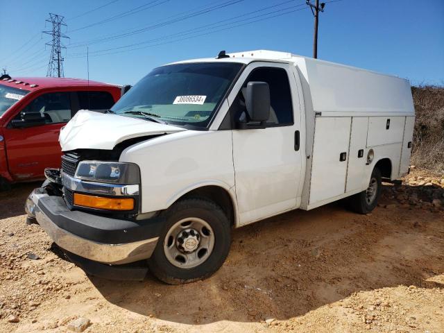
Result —
<instances>
[{"instance_id":1,"label":"dark shadow on the dirt beneath the red pickup","mask_svg":"<svg viewBox=\"0 0 444 333\"><path fill-rule=\"evenodd\" d=\"M25 214L24 205L28 195L36 187L40 187L42 181L24 182L12 185L9 191L0 191L0 219L7 219Z\"/></svg>"}]
</instances>

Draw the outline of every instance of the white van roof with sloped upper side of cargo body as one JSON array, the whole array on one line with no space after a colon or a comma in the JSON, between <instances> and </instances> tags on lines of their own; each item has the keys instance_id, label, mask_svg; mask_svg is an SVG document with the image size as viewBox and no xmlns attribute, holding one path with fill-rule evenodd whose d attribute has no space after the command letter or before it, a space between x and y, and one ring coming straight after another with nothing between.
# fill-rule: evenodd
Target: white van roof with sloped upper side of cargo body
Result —
<instances>
[{"instance_id":1,"label":"white van roof with sloped upper side of cargo body","mask_svg":"<svg viewBox=\"0 0 444 333\"><path fill-rule=\"evenodd\" d=\"M227 53L230 58L202 58L185 62L287 62L300 72L309 89L314 112L402 112L414 114L410 83L404 78L298 56L289 52L254 50Z\"/></svg>"}]
</instances>

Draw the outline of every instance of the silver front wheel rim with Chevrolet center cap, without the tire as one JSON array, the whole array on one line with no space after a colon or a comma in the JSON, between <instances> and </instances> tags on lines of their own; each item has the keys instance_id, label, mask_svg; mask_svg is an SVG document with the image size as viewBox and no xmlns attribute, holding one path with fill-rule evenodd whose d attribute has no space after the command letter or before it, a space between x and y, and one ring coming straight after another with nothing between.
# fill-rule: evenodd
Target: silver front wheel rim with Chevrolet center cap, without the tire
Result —
<instances>
[{"instance_id":1,"label":"silver front wheel rim with Chevrolet center cap, without the tire","mask_svg":"<svg viewBox=\"0 0 444 333\"><path fill-rule=\"evenodd\" d=\"M164 239L164 253L176 267L193 268L210 257L214 232L203 219L189 217L176 222Z\"/></svg>"}]
</instances>

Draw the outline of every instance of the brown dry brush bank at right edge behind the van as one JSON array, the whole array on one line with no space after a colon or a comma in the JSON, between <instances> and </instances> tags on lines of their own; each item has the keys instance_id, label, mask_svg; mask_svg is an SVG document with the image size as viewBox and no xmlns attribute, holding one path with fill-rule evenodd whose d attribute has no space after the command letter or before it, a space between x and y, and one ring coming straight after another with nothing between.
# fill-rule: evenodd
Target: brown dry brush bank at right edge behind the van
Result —
<instances>
[{"instance_id":1,"label":"brown dry brush bank at right edge behind the van","mask_svg":"<svg viewBox=\"0 0 444 333\"><path fill-rule=\"evenodd\" d=\"M411 87L416 110L412 164L444 172L444 87Z\"/></svg>"}]
</instances>

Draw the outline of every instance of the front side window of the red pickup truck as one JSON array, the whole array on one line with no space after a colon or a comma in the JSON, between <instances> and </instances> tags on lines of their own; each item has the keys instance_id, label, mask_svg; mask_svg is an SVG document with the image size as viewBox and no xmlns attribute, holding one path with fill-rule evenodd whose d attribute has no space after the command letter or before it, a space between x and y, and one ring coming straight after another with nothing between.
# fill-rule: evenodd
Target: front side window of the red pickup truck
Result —
<instances>
[{"instance_id":1,"label":"front side window of the red pickup truck","mask_svg":"<svg viewBox=\"0 0 444 333\"><path fill-rule=\"evenodd\" d=\"M22 112L40 112L46 123L66 123L71 119L71 98L69 92L51 92L38 96ZM17 116L20 118L20 114Z\"/></svg>"}]
</instances>

